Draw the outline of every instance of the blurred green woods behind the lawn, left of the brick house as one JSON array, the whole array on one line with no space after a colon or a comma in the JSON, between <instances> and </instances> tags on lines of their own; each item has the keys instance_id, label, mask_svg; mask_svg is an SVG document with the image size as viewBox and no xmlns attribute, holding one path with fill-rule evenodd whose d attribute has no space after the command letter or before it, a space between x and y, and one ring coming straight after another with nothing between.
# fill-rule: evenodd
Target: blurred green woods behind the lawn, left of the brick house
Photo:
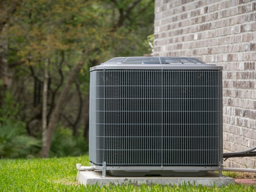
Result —
<instances>
[{"instance_id":1,"label":"blurred green woods behind the lawn, left of the brick house","mask_svg":"<svg viewBox=\"0 0 256 192\"><path fill-rule=\"evenodd\" d=\"M150 53L153 20L153 0L0 0L0 156L85 153L89 68Z\"/></svg>"}]
</instances>

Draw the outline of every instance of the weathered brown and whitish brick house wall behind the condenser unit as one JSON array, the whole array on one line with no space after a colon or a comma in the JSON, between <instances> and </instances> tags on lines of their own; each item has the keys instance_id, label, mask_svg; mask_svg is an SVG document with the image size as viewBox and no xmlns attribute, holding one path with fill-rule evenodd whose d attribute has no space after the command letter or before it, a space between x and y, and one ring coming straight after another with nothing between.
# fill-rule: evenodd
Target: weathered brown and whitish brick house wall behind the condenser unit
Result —
<instances>
[{"instance_id":1,"label":"weathered brown and whitish brick house wall behind the condenser unit","mask_svg":"<svg viewBox=\"0 0 256 192\"><path fill-rule=\"evenodd\" d=\"M156 0L154 56L223 66L224 151L256 146L256 1ZM256 166L256 157L224 165Z\"/></svg>"}]
</instances>

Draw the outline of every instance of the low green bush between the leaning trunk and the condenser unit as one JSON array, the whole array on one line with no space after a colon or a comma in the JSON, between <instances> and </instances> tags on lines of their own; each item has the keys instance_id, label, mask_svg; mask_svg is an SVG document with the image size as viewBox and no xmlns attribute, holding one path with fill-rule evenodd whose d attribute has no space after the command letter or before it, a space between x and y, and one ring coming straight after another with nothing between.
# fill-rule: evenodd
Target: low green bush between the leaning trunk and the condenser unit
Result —
<instances>
[{"instance_id":1,"label":"low green bush between the leaning trunk and the condenser unit","mask_svg":"<svg viewBox=\"0 0 256 192\"><path fill-rule=\"evenodd\" d=\"M52 138L50 156L79 156L88 151L88 143L81 134L73 136L68 128L59 128Z\"/></svg>"}]
</instances>

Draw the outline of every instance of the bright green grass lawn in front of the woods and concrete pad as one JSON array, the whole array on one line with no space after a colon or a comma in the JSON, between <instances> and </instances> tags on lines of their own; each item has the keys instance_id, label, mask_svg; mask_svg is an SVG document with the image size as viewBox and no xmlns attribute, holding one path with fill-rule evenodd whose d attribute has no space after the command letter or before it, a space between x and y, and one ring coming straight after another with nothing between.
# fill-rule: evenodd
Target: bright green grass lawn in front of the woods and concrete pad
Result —
<instances>
[{"instance_id":1,"label":"bright green grass lawn in front of the woods and concrete pad","mask_svg":"<svg viewBox=\"0 0 256 192\"><path fill-rule=\"evenodd\" d=\"M82 186L76 182L76 163L89 165L88 156L0 160L0 191L256 191L254 186Z\"/></svg>"}]
</instances>

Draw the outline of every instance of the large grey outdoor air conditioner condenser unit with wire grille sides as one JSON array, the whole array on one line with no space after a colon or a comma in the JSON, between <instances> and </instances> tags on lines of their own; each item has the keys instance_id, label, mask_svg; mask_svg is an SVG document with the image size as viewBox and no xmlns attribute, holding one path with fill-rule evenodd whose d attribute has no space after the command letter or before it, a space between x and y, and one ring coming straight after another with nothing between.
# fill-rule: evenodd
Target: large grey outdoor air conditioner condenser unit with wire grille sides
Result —
<instances>
[{"instance_id":1,"label":"large grey outdoor air conditioner condenser unit with wire grille sides","mask_svg":"<svg viewBox=\"0 0 256 192\"><path fill-rule=\"evenodd\" d=\"M184 57L120 57L90 68L95 169L115 176L219 170L222 69Z\"/></svg>"}]
</instances>

